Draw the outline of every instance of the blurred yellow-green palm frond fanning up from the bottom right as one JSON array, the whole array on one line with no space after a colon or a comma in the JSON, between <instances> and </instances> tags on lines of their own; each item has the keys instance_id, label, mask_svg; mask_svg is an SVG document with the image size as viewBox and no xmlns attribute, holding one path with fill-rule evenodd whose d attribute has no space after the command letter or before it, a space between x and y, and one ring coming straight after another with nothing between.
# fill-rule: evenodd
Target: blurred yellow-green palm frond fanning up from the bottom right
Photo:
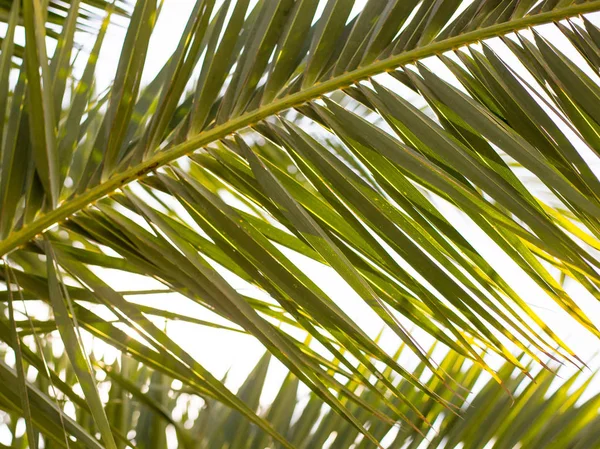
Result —
<instances>
[{"instance_id":1,"label":"blurred yellow-green palm frond fanning up from the bottom right","mask_svg":"<svg viewBox=\"0 0 600 449\"><path fill-rule=\"evenodd\" d=\"M249 403L255 404L257 409L260 393L268 388L268 383L265 383L266 366L268 359L265 357L257 364L238 393L240 396L244 395ZM515 374L514 366L507 362L498 369L498 373L513 394L511 399L496 381L490 379L482 382L487 377L485 372L479 366L471 365L462 356L447 354L440 366L451 373L465 390L476 388L476 392L466 394L464 398L447 396L460 408L460 416L449 413L434 401L423 400L417 390L401 381L399 387L419 402L419 409L424 411L429 422L435 424L431 429L425 425L390 425L377 420L368 412L356 409L357 416L365 427L370 429L384 447L586 448L595 447L599 443L600 437L595 429L598 426L596 412L600 398L591 391L593 379L584 379L581 372L568 376L564 384L557 388L548 371L540 371L531 381L523 373ZM425 364L421 364L415 369L415 373L421 374L425 369ZM435 379L430 382L432 388L441 395L447 393L447 389ZM356 383L350 382L348 387L358 391ZM287 376L273 403L263 412L281 434L297 447L373 447L337 414L323 409L314 395L300 395L300 403L297 395L297 379ZM363 391L360 395L368 402L377 404L377 400L368 393ZM378 410L386 413L384 406L379 406ZM406 412L411 414L409 410ZM209 426L207 423L219 425ZM216 404L207 404L193 421L191 436L193 438L195 432L204 435L201 448L268 447L270 442L264 433L240 424L241 419L235 412ZM204 431L206 428L210 430Z\"/></svg>"}]
</instances>

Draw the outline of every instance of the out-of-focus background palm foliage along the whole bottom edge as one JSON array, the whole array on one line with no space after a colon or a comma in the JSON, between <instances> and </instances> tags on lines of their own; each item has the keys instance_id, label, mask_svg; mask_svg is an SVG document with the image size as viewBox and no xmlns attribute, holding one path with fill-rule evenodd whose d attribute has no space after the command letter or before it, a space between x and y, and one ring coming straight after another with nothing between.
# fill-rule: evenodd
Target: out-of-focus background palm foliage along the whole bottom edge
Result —
<instances>
[{"instance_id":1,"label":"out-of-focus background palm foliage along the whole bottom edge","mask_svg":"<svg viewBox=\"0 0 600 449\"><path fill-rule=\"evenodd\" d=\"M52 340L44 341L44 349L51 365L58 369L68 366L66 355L53 358ZM430 348L428 353L433 349ZM400 348L394 356L399 363L410 362L413 358L404 351L405 347ZM324 406L315 394L307 393L292 374L288 374L275 391L272 403L265 406L261 398L265 390L270 389L267 380L270 358L266 354L260 359L237 396L271 422L291 444L298 448L373 447L348 421ZM276 447L268 434L249 424L231 408L207 396L199 398L181 384L173 383L172 378L148 370L131 358L123 356L118 362L106 364L103 360L97 360L94 363L103 373L104 380L99 384L110 386L106 413L118 437L119 447L125 447L126 444L140 449ZM504 390L480 366L454 352L447 353L441 359L440 367L455 379L454 386L460 391L459 395L453 395L442 382L429 377L425 363L420 363L413 373L450 401L452 409L425 397L410 382L398 378L398 388L415 401L425 419L418 419L401 401L393 401L394 406L406 413L407 418L414 420L413 425L397 423L389 418L389 408L379 398L362 389L359 379L352 379L348 375L344 386L369 404L370 408L365 410L350 405L350 409L356 413L359 422L389 449L512 449L518 443L522 448L532 449L588 449L600 445L597 431L600 425L600 393L592 393L593 377L582 371L565 377L559 368L557 374L563 376L563 380L556 382L555 373L542 369L535 373L533 379L529 379L523 372L515 370L512 363L505 362L498 369L506 388ZM13 379L16 377L14 372L10 375ZM73 388L76 383L77 379L72 373L63 382L67 389ZM51 385L43 377L38 378L35 386L31 387L32 405L39 404L40 391L52 391ZM3 394L12 399L11 407L6 407L10 416L7 424L15 435L11 447L26 447L18 393L7 387L0 388ZM472 393L468 394L468 391ZM78 398L75 393L70 394ZM69 402L70 396L59 397L61 405L63 401ZM89 409L84 401L75 400L82 406L77 409L75 420L63 418L65 427L93 432L94 423ZM32 410L37 411L35 407ZM60 447L64 443L62 424L57 415L56 411L47 414L48 427L44 428L48 435L46 447ZM39 418L39 415L34 413L33 417Z\"/></svg>"}]
</instances>

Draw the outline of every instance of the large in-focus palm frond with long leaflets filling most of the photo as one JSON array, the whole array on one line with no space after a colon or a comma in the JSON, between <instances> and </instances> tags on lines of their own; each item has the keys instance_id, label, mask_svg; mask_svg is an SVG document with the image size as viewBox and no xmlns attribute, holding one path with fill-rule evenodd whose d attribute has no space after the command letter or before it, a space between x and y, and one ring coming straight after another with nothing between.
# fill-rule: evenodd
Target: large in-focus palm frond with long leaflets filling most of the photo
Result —
<instances>
[{"instance_id":1,"label":"large in-focus palm frond with long leaflets filling most of the photo","mask_svg":"<svg viewBox=\"0 0 600 449\"><path fill-rule=\"evenodd\" d=\"M382 437L372 416L421 433L435 421L429 409L453 419L462 374L434 363L409 327L508 390L509 368L490 367L482 349L524 373L520 352L537 365L550 356L581 366L443 210L460 211L547 301L600 336L563 288L569 279L600 294L600 1L368 0L355 14L354 0L198 0L175 52L142 86L162 3L139 0L101 92L98 55L126 5L106 5L77 70L89 5L60 3L67 16L53 24L53 4L12 2L0 50L0 339L15 355L14 369L1 367L0 403L22 414L30 447L35 431L58 446L113 449L127 437L130 424L114 428L99 392L102 365L89 360L85 334L144 366L134 371L176 379L294 447L290 429L257 414L151 319L194 317L140 305L111 283L115 271L158 281L161 293L227 322L202 324L254 336L365 445ZM337 272L431 379L386 352L292 255ZM32 300L48 320L20 315ZM55 329L85 399L39 338L22 338ZM58 393L33 387L30 369L93 427L62 413ZM449 438L462 439L456 426Z\"/></svg>"}]
</instances>

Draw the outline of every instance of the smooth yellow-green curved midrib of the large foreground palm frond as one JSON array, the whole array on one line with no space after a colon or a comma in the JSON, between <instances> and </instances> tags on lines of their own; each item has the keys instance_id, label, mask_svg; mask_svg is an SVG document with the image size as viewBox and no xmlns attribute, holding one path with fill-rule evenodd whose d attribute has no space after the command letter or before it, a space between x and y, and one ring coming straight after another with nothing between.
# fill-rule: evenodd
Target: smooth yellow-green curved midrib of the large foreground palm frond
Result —
<instances>
[{"instance_id":1,"label":"smooth yellow-green curved midrib of the large foreground palm frond","mask_svg":"<svg viewBox=\"0 0 600 449\"><path fill-rule=\"evenodd\" d=\"M440 54L445 51L481 41L486 38L503 35L534 25L541 25L598 10L600 10L600 0L593 0L579 5L572 5L566 8L560 8L553 11L536 14L535 16L531 17L524 17L506 23L492 25L490 27L464 33L443 41L434 42L399 55L391 56L367 66L360 67L351 72L343 73L342 75L328 79L327 81L317 83L308 89L288 95L287 97L276 100L254 111L236 117L227 123L216 126L210 130L203 131L195 137L190 138L188 141L158 153L150 159L113 176L107 181L86 191L76 198L66 201L58 208L37 218L19 231L9 234L5 240L0 242L0 256L3 256L15 248L27 243L37 234L43 232L56 223L60 223L77 211L90 204L93 204L95 201L109 195L120 187L141 178L150 171L168 164L169 162L185 156L202 146L205 146L211 142L215 142L266 117L277 114L278 112L316 99L324 94L349 86L362 79L369 78L379 73L409 64L428 56Z\"/></svg>"}]
</instances>

